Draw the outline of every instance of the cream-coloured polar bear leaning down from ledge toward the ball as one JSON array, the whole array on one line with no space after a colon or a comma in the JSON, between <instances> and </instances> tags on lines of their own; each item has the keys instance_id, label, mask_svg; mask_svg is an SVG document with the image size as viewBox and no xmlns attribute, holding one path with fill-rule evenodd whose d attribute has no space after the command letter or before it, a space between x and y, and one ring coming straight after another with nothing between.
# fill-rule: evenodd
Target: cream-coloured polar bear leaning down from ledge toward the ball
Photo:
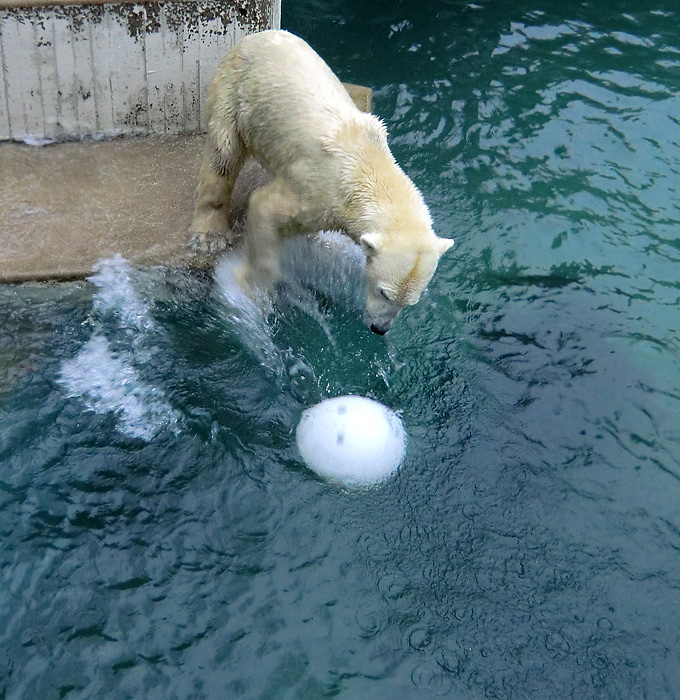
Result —
<instances>
[{"instance_id":1,"label":"cream-coloured polar bear leaning down from ledge toward the ball","mask_svg":"<svg viewBox=\"0 0 680 700\"><path fill-rule=\"evenodd\" d=\"M250 196L242 286L278 281L284 238L343 231L366 256L367 324L386 333L418 302L453 241L435 235L382 122L354 105L306 42L281 30L241 39L217 68L207 109L193 247L213 252L229 239L231 193L253 156L273 179Z\"/></svg>"}]
</instances>

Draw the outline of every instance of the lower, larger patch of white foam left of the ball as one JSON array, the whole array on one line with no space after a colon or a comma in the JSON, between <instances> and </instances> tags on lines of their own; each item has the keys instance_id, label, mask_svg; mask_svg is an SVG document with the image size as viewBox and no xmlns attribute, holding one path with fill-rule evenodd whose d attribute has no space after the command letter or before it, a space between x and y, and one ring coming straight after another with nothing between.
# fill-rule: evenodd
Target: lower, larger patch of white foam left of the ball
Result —
<instances>
[{"instance_id":1,"label":"lower, larger patch of white foam left of the ball","mask_svg":"<svg viewBox=\"0 0 680 700\"><path fill-rule=\"evenodd\" d=\"M102 335L93 335L82 350L61 367L60 381L68 396L79 397L96 413L112 413L121 432L152 440L161 430L177 430L180 414L164 393L145 384L129 354L115 355Z\"/></svg>"}]
</instances>

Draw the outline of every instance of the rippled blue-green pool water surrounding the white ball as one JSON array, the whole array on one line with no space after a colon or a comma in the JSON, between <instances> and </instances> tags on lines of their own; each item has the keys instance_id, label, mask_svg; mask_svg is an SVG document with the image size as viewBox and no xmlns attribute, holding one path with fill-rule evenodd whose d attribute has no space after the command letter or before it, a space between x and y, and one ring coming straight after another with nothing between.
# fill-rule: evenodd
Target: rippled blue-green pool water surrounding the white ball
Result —
<instances>
[{"instance_id":1,"label":"rippled blue-green pool water surrounding the white ball","mask_svg":"<svg viewBox=\"0 0 680 700\"><path fill-rule=\"evenodd\" d=\"M0 290L0 697L680 697L677 7L379 5L283 19L456 239L386 339L318 249ZM378 489L295 451L350 393Z\"/></svg>"}]
</instances>

